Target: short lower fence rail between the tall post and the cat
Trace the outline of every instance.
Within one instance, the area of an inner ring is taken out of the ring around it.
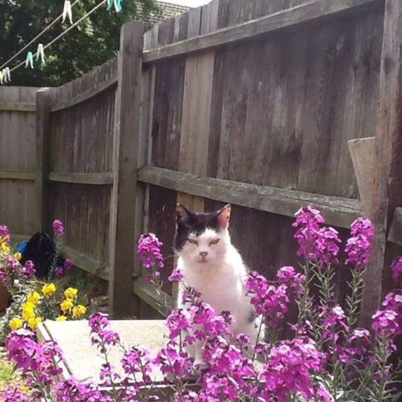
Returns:
[[[162,316],[167,317],[174,309],[173,298],[163,290],[158,291],[155,286],[146,283],[143,277],[134,280],[133,292]]]

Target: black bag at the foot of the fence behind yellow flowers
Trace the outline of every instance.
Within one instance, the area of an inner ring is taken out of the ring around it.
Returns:
[[[56,254],[56,245],[47,233],[37,232],[28,241],[22,252],[21,264],[26,261],[33,261],[35,264],[35,276],[47,278],[50,266]],[[64,264],[64,259],[58,256],[56,267]]]

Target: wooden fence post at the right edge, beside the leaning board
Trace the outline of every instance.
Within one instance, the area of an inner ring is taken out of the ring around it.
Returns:
[[[369,218],[375,236],[365,272],[361,324],[369,326],[379,308],[386,263],[386,235],[392,214],[402,204],[402,3],[385,1],[380,87],[374,141],[373,187]]]

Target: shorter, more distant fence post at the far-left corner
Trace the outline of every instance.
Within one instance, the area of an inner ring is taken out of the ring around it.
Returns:
[[[48,176],[49,176],[49,121],[50,88],[41,88],[36,92],[36,200],[37,228],[48,230]]]

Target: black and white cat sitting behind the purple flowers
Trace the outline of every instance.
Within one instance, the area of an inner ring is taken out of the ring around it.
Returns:
[[[176,209],[177,231],[174,249],[178,254],[177,269],[184,274],[185,284],[201,293],[217,314],[230,311],[235,318],[235,334],[250,336],[252,344],[258,337],[261,317],[256,317],[246,295],[244,281],[247,268],[229,235],[231,206],[217,212],[191,213],[182,205]],[[182,306],[179,287],[177,305]],[[263,331],[262,331],[263,333]],[[202,362],[202,345],[189,350],[196,363]]]

